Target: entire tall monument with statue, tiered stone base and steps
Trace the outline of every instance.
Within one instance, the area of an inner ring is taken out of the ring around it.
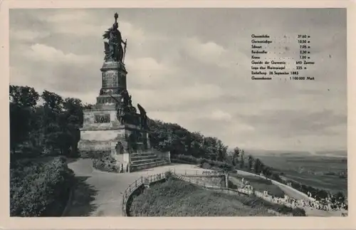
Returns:
[[[117,23],[103,34],[105,57],[102,83],[96,104],[84,110],[78,149],[81,157],[98,158],[112,155],[124,171],[155,167],[170,162],[169,152],[152,149],[149,139],[148,117],[137,104],[132,105],[127,91],[125,54],[127,41],[122,40]]]

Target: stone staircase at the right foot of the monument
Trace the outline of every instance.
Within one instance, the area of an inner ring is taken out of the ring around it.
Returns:
[[[161,159],[152,151],[133,153],[131,155],[130,171],[134,172],[142,169],[149,169],[164,164],[169,164],[169,162],[167,162],[167,160]]]

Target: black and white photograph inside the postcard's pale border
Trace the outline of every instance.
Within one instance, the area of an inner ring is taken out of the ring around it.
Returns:
[[[10,216],[347,218],[346,13],[10,9]]]

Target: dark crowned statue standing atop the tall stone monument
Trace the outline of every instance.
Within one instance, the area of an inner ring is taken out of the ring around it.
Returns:
[[[120,61],[123,63],[125,51],[126,51],[126,44],[127,41],[122,40],[122,36],[120,31],[117,29],[117,17],[118,14],[115,13],[115,23],[112,24],[112,27],[105,31],[103,34],[103,38],[108,39],[108,42],[104,42],[105,47],[105,61]],[[124,48],[122,48],[122,44],[124,44]]]

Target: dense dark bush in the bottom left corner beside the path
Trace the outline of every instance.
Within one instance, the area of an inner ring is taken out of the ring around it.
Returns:
[[[10,170],[11,216],[61,216],[73,179],[61,157],[15,164]]]

